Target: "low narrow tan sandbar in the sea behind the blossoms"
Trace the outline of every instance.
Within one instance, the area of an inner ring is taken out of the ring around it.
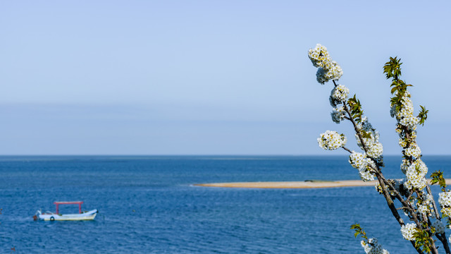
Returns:
[[[451,184],[451,179],[445,179],[447,184]],[[428,180],[430,181],[430,180]],[[199,183],[194,186],[223,187],[223,188],[337,188],[337,187],[357,187],[375,186],[375,181],[364,182],[362,180],[342,180],[342,181],[283,181],[283,182],[241,182],[241,183]]]

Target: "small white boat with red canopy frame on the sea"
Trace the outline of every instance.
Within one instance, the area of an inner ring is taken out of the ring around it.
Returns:
[[[82,212],[83,201],[56,201],[56,212],[42,212],[37,210],[33,219],[44,220],[44,221],[75,221],[75,220],[92,220],[96,217],[97,209]],[[60,214],[59,205],[78,205],[78,213],[75,214]]]

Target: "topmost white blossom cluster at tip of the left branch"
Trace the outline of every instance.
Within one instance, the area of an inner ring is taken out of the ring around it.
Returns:
[[[316,80],[319,83],[324,84],[329,80],[338,80],[343,75],[341,67],[330,59],[329,53],[323,45],[316,44],[314,49],[310,49],[309,58],[311,63],[318,67]]]

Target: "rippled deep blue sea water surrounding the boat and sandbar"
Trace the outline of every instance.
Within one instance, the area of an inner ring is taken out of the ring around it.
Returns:
[[[402,177],[400,160],[385,158],[385,176]],[[451,178],[451,157],[424,161]],[[307,179],[359,176],[347,157],[0,157],[0,253],[364,253],[354,223],[390,253],[414,253],[373,187],[193,186]],[[99,214],[32,220],[57,200],[82,200]]]

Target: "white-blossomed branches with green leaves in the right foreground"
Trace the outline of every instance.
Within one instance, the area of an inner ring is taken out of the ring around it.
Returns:
[[[400,59],[391,58],[383,67],[387,78],[392,78],[390,85],[393,97],[390,99],[390,115],[397,120],[396,131],[400,135],[399,144],[402,147],[402,155],[404,157],[401,170],[406,175],[406,179],[397,181],[385,179],[381,171],[383,164],[383,146],[379,143],[379,134],[375,128],[369,123],[362,110],[362,104],[356,95],[350,97],[349,89],[344,85],[338,85],[336,80],[342,76],[342,69],[337,62],[330,59],[330,55],[321,44],[317,44],[314,49],[309,50],[309,58],[314,66],[318,67],[316,72],[316,80],[324,84],[329,80],[333,81],[333,90],[330,92],[330,104],[333,111],[330,114],[335,123],[343,120],[350,121],[354,127],[357,145],[362,149],[363,153],[354,152],[347,147],[347,138],[344,134],[336,131],[326,131],[318,138],[319,146],[325,150],[335,150],[342,147],[350,152],[349,162],[355,169],[358,169],[360,177],[363,181],[371,181],[378,179],[376,189],[383,194],[390,211],[401,226],[402,236],[411,241],[412,246],[418,253],[438,253],[435,247],[433,236],[443,243],[445,252],[451,254],[445,236],[444,226],[440,222],[440,214],[435,205],[431,194],[431,188],[426,181],[428,168],[421,160],[421,149],[416,143],[416,126],[424,125],[427,119],[428,110],[421,107],[418,116],[413,115],[413,104],[410,94],[407,92],[408,87],[412,87],[400,79],[402,63]],[[435,178],[434,178],[435,176]],[[440,178],[441,176],[441,178]],[[444,184],[443,174],[433,174],[433,183]],[[426,190],[426,191],[425,191]],[[442,186],[443,193],[440,193],[440,206],[442,207],[443,217],[448,217],[448,224],[451,224],[451,191],[446,191]],[[395,206],[395,200],[401,203],[400,207]],[[414,223],[405,224],[404,220],[398,213],[403,210],[408,219]],[[434,214],[435,221],[431,222],[431,216]],[[356,226],[357,225],[357,226]],[[353,225],[356,234],[364,234],[363,229],[358,225]],[[366,236],[364,234],[364,236]],[[371,246],[368,238],[366,244]],[[362,243],[366,253],[367,248]],[[376,249],[375,249],[376,250]],[[388,251],[380,248],[380,252],[371,253],[388,253]],[[379,250],[379,249],[378,249]],[[385,251],[385,252],[381,252]]]

